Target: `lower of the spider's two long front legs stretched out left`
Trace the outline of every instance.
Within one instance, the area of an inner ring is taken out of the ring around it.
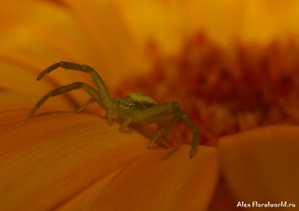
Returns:
[[[99,95],[99,93],[92,88],[91,86],[89,86],[88,84],[84,84],[84,83],[73,83],[64,87],[60,87],[56,90],[53,90],[51,92],[48,92],[48,94],[46,94],[44,97],[42,97],[39,102],[37,102],[37,104],[32,108],[32,110],[30,111],[29,115],[27,118],[31,118],[32,115],[34,114],[35,110],[41,106],[49,97],[54,97],[56,95],[60,95],[72,90],[76,90],[76,89],[80,89],[82,88],[83,90],[85,90],[94,101],[96,101],[101,107],[103,107],[105,110],[107,110],[107,107],[104,105],[101,96]]]

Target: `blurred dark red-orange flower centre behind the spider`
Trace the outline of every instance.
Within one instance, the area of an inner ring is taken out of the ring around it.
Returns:
[[[156,46],[149,49],[151,74],[124,82],[132,86],[121,92],[142,92],[158,103],[176,101],[197,125],[201,144],[217,146],[222,135],[259,126],[299,124],[299,47],[294,40],[222,49],[199,34],[172,57],[158,53]],[[178,123],[171,143],[189,144],[190,136]]]

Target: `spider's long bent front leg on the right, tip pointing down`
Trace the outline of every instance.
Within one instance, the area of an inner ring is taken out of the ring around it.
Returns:
[[[165,111],[170,110],[170,109],[172,109],[173,111],[172,112],[165,112]],[[155,122],[160,122],[162,120],[166,120],[166,119],[162,119],[162,117],[166,117],[166,115],[169,115],[169,113],[171,113],[173,120],[170,122],[169,126],[167,127],[167,129],[164,132],[166,132],[166,135],[167,135],[168,132],[170,131],[170,129],[178,121],[178,119],[181,118],[193,134],[191,151],[190,151],[190,154],[189,154],[189,156],[192,157],[195,150],[196,150],[196,146],[197,146],[198,129],[196,128],[196,126],[192,122],[192,120],[187,116],[187,114],[184,113],[184,112],[181,112],[178,103],[168,102],[168,103],[159,104],[159,105],[156,105],[156,106],[151,106],[148,109],[146,109],[146,110],[139,113],[139,115],[138,115],[139,121],[136,122],[136,123],[142,123],[142,124],[148,123],[149,124],[149,122],[153,123],[152,120],[155,120]],[[147,120],[148,118],[149,118],[149,120]],[[170,118],[167,118],[167,119],[170,119]]]

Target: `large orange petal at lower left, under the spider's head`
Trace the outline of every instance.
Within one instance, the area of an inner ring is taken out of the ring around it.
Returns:
[[[122,132],[118,126],[75,113],[44,114],[0,126],[1,209],[57,208],[137,157],[161,149],[155,145],[148,150],[148,137],[134,125]],[[87,195],[89,199],[93,197]]]

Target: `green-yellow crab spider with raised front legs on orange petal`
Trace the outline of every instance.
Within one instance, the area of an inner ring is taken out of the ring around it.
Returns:
[[[166,139],[166,136],[169,133],[169,131],[181,118],[193,133],[193,141],[191,145],[191,151],[189,154],[189,156],[192,158],[197,146],[198,130],[193,121],[187,116],[187,114],[180,110],[180,107],[176,102],[168,102],[157,105],[152,98],[143,93],[131,93],[127,95],[124,99],[121,99],[118,96],[112,99],[104,81],[93,68],[87,65],[80,65],[72,62],[61,61],[56,64],[53,64],[47,69],[45,69],[43,72],[41,72],[36,80],[41,80],[45,74],[48,74],[49,72],[55,70],[58,67],[65,68],[66,70],[77,70],[89,73],[98,91],[89,86],[88,84],[81,82],[76,82],[55,89],[53,91],[50,91],[48,94],[46,94],[44,97],[40,99],[40,101],[32,108],[27,118],[31,118],[35,110],[39,106],[41,106],[49,97],[54,97],[56,95],[60,95],[75,89],[82,88],[91,96],[91,98],[77,110],[77,113],[84,110],[90,103],[96,102],[104,110],[107,111],[108,123],[110,125],[112,125],[112,115],[115,115],[118,118],[124,120],[124,122],[120,125],[119,130],[122,130],[125,127],[127,127],[131,121],[137,124],[151,124],[158,122],[157,132],[149,142],[148,148],[150,148],[161,135],[163,127],[164,132],[162,134],[162,138]],[[169,125],[167,125],[166,123],[166,120],[168,119],[172,119]]]

